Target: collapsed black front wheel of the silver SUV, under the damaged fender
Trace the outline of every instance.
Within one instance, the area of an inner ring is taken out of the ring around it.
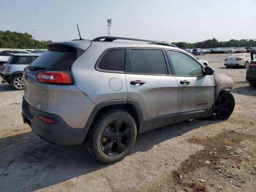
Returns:
[[[230,117],[235,107],[234,96],[228,92],[223,91],[218,95],[213,107],[209,120],[226,120]]]

